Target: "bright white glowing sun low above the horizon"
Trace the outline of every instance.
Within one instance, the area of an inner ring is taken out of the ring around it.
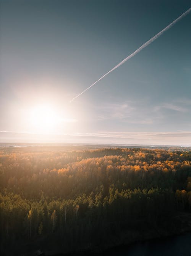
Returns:
[[[58,113],[51,106],[40,105],[31,110],[30,123],[38,131],[50,132],[57,127],[59,122]]]

